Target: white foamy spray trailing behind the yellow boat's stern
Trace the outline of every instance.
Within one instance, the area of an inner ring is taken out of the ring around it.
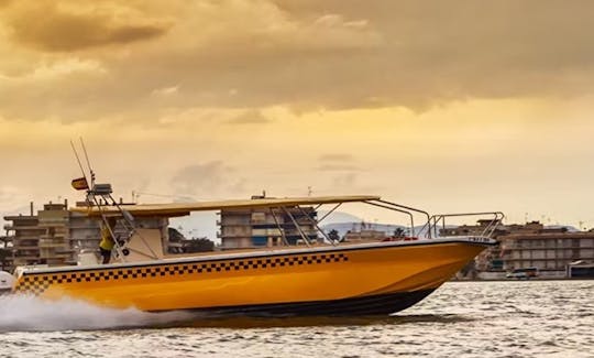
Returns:
[[[72,299],[51,302],[24,295],[0,296],[0,333],[155,328],[176,326],[191,318],[191,314],[185,312],[116,310]]]

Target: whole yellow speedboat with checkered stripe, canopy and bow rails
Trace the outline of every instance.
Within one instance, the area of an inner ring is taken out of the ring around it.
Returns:
[[[108,195],[109,193],[92,193]],[[179,216],[196,210],[277,208],[361,202],[400,213],[410,207],[376,196],[258,198],[194,204],[95,205],[89,216]],[[98,202],[96,202],[98,203]],[[114,202],[113,202],[114,203]],[[484,214],[484,213],[483,213]],[[389,314],[419,302],[486,247],[503,215],[485,235],[436,238],[447,216],[427,215],[424,238],[359,242],[301,242],[243,251],[168,257],[161,240],[136,234],[118,248],[121,262],[61,268],[20,268],[13,289],[43,299],[73,297],[109,307],[160,312],[193,310],[239,315]],[[413,215],[410,215],[413,218]],[[414,226],[413,226],[414,227]],[[144,254],[142,251],[145,251]],[[128,251],[128,252],[127,252]],[[146,251],[156,252],[151,257]],[[123,253],[122,253],[123,252]],[[131,253],[130,253],[131,252]],[[127,256],[127,253],[130,253]]]

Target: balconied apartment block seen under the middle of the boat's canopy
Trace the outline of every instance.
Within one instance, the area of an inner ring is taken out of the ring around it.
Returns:
[[[221,249],[272,247],[285,240],[289,245],[305,245],[305,240],[319,240],[317,211],[312,207],[222,209],[218,214],[217,237],[221,239]]]

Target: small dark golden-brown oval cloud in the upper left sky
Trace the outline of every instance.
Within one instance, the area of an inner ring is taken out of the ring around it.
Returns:
[[[128,44],[161,36],[168,28],[163,22],[117,14],[116,9],[69,11],[58,3],[35,1],[14,11],[8,23],[14,41],[48,52]]]

